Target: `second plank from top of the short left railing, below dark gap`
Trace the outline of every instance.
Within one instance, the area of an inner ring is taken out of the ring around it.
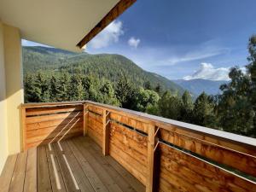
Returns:
[[[77,117],[83,117],[83,112],[72,112],[72,113],[56,113],[49,114],[44,116],[34,116],[26,118],[26,125],[33,123],[40,123],[49,120],[57,120],[57,119],[71,119]]]

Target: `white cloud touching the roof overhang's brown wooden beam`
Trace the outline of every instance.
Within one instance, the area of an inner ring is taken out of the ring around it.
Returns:
[[[114,20],[90,41],[89,46],[94,49],[107,47],[109,44],[117,43],[123,34],[123,23],[120,20]]]

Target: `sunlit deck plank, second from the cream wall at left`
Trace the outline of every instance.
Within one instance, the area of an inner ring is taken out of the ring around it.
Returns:
[[[26,160],[27,151],[18,154],[14,174],[9,186],[9,192],[23,191],[26,175]]]

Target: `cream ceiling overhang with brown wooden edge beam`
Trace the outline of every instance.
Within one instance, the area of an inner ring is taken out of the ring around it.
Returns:
[[[81,51],[136,0],[1,0],[0,19],[26,40]]]

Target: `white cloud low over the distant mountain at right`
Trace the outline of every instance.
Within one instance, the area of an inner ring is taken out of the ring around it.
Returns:
[[[190,79],[208,79],[208,80],[230,80],[230,67],[215,68],[211,63],[201,63],[201,67],[192,75],[186,76],[184,80]]]

